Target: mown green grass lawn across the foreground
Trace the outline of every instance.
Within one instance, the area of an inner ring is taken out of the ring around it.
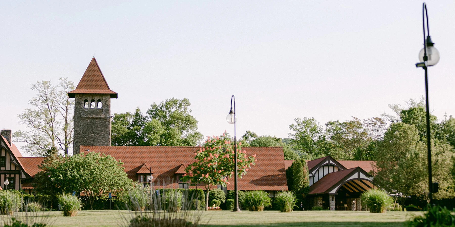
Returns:
[[[403,226],[405,220],[420,214],[422,212],[202,211],[201,224],[203,227],[389,227]],[[76,217],[63,217],[61,212],[40,212],[39,215],[38,219],[44,218],[53,227],[119,227],[132,214],[128,211],[80,211]]]

